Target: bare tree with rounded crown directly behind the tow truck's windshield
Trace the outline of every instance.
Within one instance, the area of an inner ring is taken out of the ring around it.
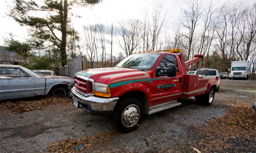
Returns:
[[[120,35],[123,43],[119,41],[120,47],[125,51],[126,56],[131,55],[141,42],[141,22],[136,19],[119,23]]]

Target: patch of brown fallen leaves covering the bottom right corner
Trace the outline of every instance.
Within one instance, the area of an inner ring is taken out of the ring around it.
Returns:
[[[195,135],[203,137],[197,147],[203,152],[250,152],[255,149],[256,115],[251,105],[232,105],[227,115],[195,128]]]

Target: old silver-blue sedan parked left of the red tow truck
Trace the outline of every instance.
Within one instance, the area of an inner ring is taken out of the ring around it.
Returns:
[[[0,64],[0,100],[53,94],[68,96],[74,79],[63,76],[41,77],[20,65]]]

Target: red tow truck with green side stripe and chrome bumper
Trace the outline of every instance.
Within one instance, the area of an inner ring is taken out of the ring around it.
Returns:
[[[181,105],[181,97],[195,97],[202,105],[214,100],[216,80],[187,74],[187,66],[203,56],[184,61],[181,49],[133,54],[112,68],[78,71],[71,89],[74,105],[92,115],[114,115],[123,133],[136,130],[143,114]]]

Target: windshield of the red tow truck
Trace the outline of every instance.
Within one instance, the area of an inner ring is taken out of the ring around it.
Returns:
[[[142,71],[151,70],[158,58],[160,57],[160,53],[140,53],[133,54],[120,63],[118,63],[117,67],[126,67],[126,68],[134,68]]]

